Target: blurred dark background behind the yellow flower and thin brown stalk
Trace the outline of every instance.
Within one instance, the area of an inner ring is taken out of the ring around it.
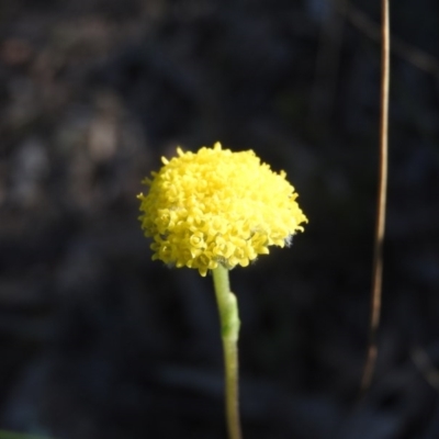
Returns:
[[[245,438],[439,438],[439,3],[392,2],[390,181],[365,357],[379,1],[0,3],[0,429],[225,438],[212,282],[151,262],[139,181],[221,140],[309,218],[232,272]]]

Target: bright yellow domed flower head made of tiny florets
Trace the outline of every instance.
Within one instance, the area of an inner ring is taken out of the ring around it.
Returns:
[[[303,230],[307,218],[286,173],[273,172],[252,150],[233,153],[216,143],[177,153],[161,159],[164,167],[143,181],[148,193],[138,195],[153,259],[205,275],[219,263],[246,267]]]

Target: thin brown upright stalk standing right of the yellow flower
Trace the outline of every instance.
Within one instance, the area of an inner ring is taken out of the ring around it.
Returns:
[[[372,266],[371,318],[369,328],[368,357],[364,364],[360,391],[363,394],[371,385],[376,363],[376,336],[381,314],[381,289],[383,278],[383,240],[387,192],[387,124],[390,82],[390,25],[389,0],[381,0],[381,112],[380,112],[380,176],[376,206],[376,226]]]

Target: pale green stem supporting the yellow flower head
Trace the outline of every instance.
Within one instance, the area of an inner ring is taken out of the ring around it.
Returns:
[[[225,399],[229,439],[240,439],[240,423],[238,409],[238,303],[230,291],[228,269],[218,266],[213,270],[216,302],[219,311],[221,337],[224,348],[225,367]]]

